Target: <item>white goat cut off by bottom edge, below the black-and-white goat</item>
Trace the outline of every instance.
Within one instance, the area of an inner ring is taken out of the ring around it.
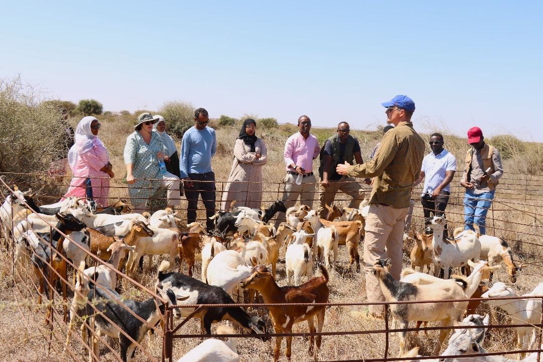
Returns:
[[[217,327],[217,334],[234,333],[231,327],[225,325]],[[236,337],[230,337],[226,342],[213,338],[206,339],[177,362],[239,362],[236,346]]]

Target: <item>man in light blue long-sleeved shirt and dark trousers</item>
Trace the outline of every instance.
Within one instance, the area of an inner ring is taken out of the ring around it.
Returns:
[[[194,111],[194,126],[188,129],[181,141],[179,169],[185,183],[187,197],[187,224],[196,221],[198,195],[201,195],[206,208],[207,231],[214,228],[215,214],[215,174],[211,169],[211,157],[217,151],[215,130],[207,127],[209,115],[203,108]]]

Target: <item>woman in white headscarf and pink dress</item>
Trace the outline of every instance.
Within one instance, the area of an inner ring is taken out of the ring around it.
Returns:
[[[109,162],[108,150],[98,138],[100,123],[87,116],[79,121],[75,130],[75,144],[68,153],[72,169],[72,182],[64,198],[89,198],[108,206],[109,178],[115,177]],[[62,198],[64,200],[64,198]]]

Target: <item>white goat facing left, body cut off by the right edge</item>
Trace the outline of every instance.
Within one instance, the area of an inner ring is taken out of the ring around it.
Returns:
[[[534,290],[530,293],[523,294],[522,296],[528,295],[543,295],[543,283],[540,283]],[[505,283],[496,282],[481,297],[482,298],[492,298],[492,297],[515,297],[518,296],[513,288],[508,287]],[[501,307],[505,310],[510,317],[512,317],[515,324],[526,323],[526,327],[517,327],[517,341],[516,346],[521,350],[528,350],[535,342],[535,333],[534,325],[539,324],[541,319],[541,299],[509,299],[509,300],[489,300],[488,304],[493,306]],[[532,336],[532,340],[530,336]],[[523,353],[521,353],[522,358]]]

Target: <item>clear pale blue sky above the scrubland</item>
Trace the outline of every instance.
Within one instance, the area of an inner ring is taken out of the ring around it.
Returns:
[[[167,100],[375,129],[408,94],[415,128],[543,142],[543,2],[4,2],[0,77],[105,110]]]

